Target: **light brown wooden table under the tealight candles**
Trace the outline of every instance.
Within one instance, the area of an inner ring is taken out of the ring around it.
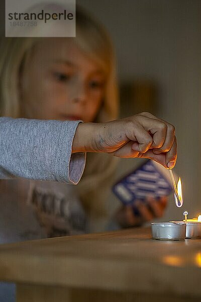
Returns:
[[[201,301],[201,239],[154,241],[150,229],[0,246],[0,280],[17,301]]]

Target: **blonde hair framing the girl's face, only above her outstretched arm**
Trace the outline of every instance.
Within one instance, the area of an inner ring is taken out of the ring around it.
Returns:
[[[43,38],[1,38],[0,45],[0,115],[21,117],[18,93],[19,72],[32,47]],[[51,39],[51,38],[50,38]],[[86,14],[76,9],[75,42],[88,56],[102,65],[108,74],[102,115],[99,121],[113,120],[118,114],[118,92],[115,55],[105,29]]]

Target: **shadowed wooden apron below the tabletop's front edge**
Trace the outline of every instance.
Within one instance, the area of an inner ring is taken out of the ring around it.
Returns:
[[[142,292],[67,288],[48,285],[17,286],[17,302],[192,302],[193,297],[178,297]],[[199,302],[199,301],[197,301]]]

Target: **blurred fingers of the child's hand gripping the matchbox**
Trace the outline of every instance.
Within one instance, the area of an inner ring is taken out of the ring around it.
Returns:
[[[132,205],[123,205],[117,210],[115,219],[123,228],[139,226],[156,217],[161,217],[166,204],[167,197],[161,197],[159,200],[149,198],[145,203],[142,201],[135,201],[135,208],[138,209],[140,215],[134,214]]]

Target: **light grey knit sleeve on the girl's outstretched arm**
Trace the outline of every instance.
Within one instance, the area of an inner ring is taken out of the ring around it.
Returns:
[[[71,154],[81,121],[0,118],[0,178],[77,184],[85,153]]]

